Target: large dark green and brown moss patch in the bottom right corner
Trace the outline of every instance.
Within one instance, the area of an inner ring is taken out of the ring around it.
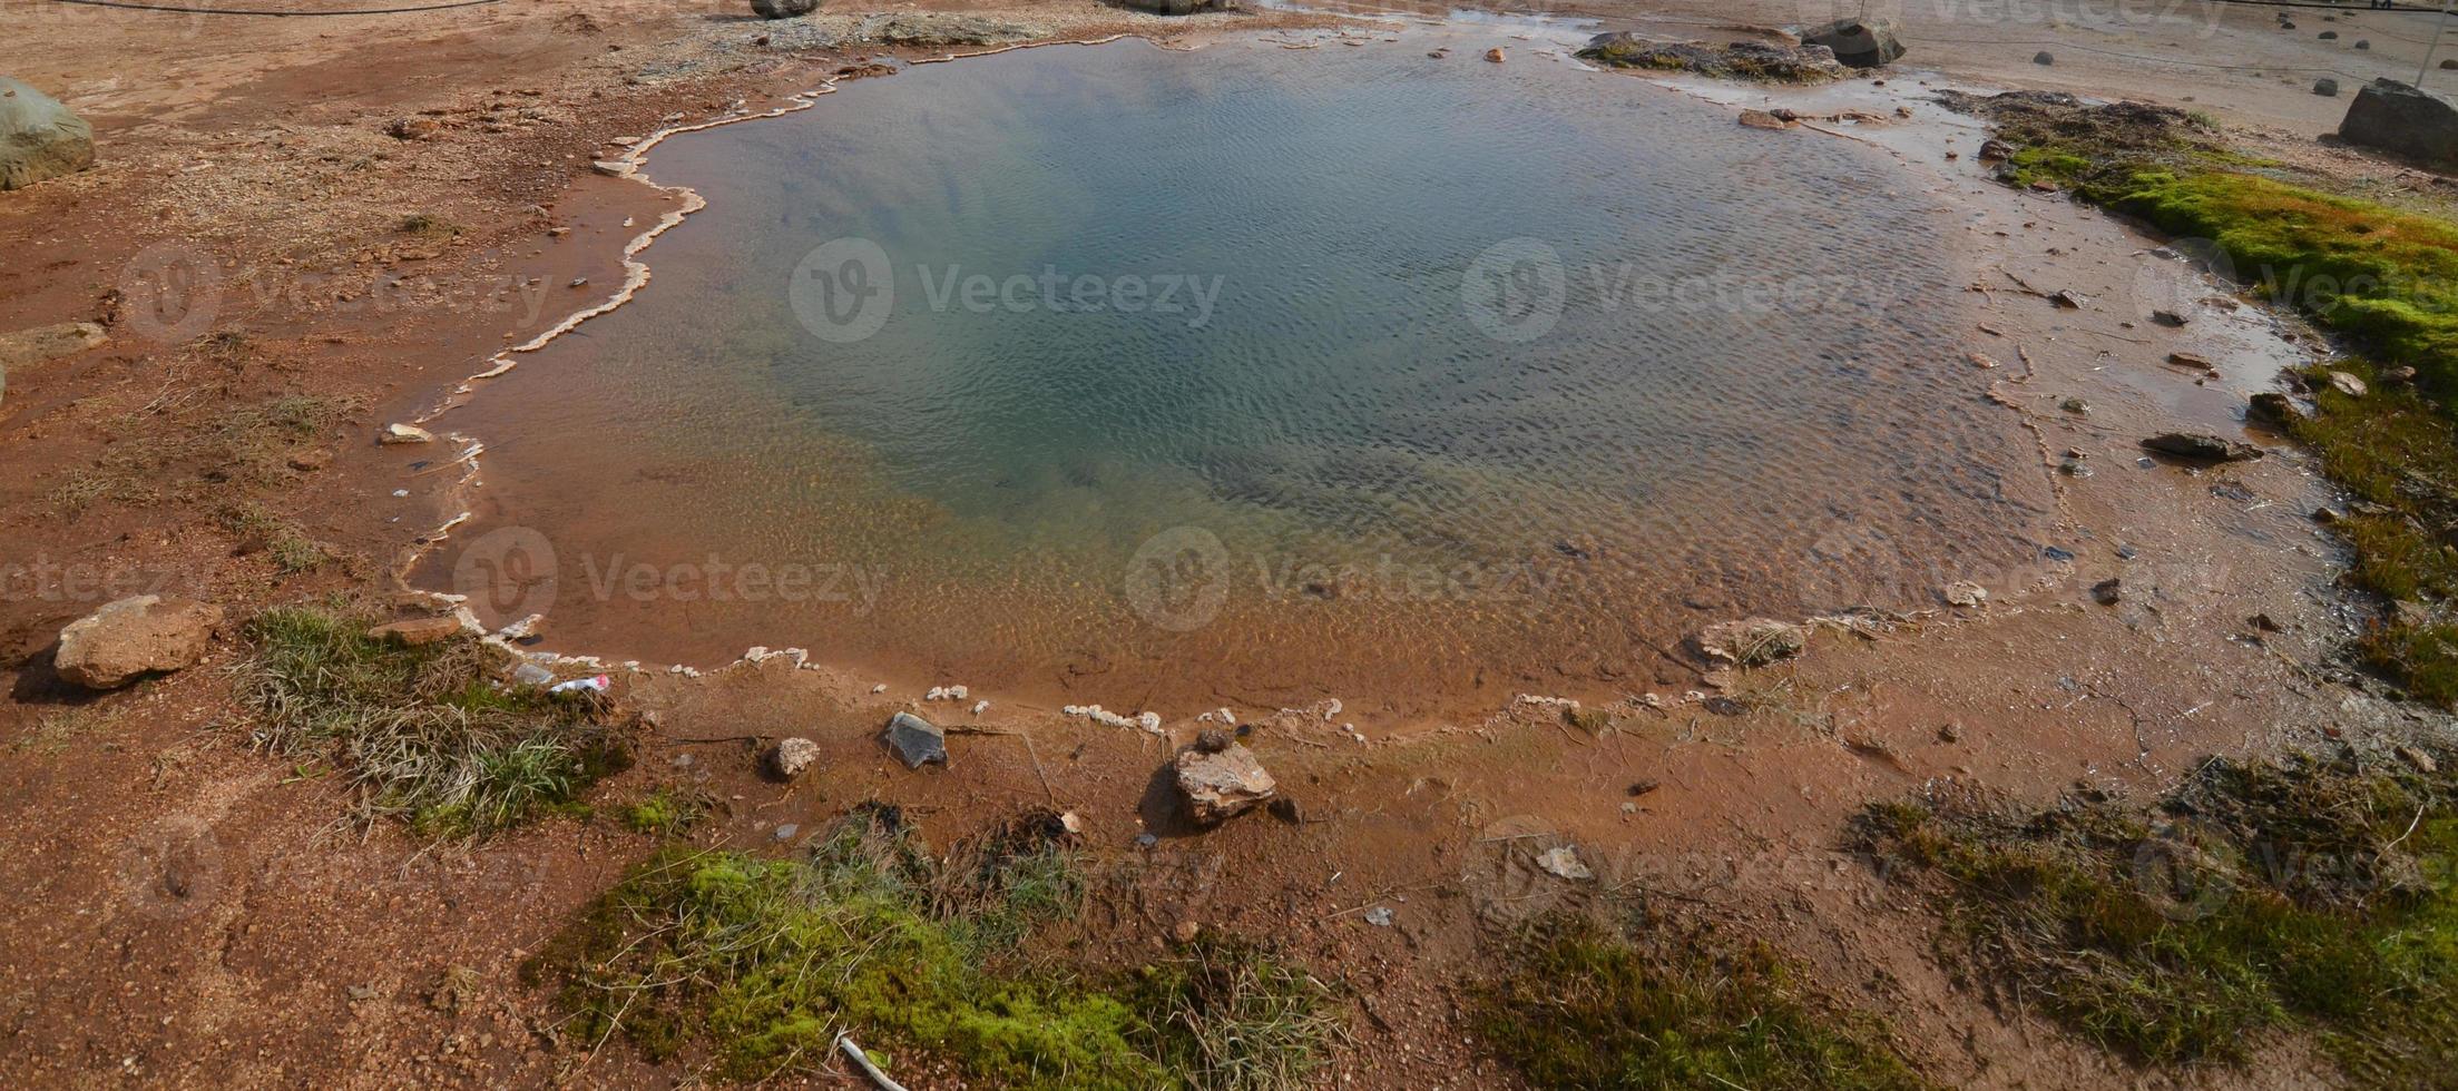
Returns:
[[[2210,762],[2153,808],[1888,804],[1856,840],[1942,904],[1976,988],[2092,1042],[2242,1064],[2308,1032],[2362,1084],[2426,1086],[2458,1059],[2453,786],[2397,759]]]

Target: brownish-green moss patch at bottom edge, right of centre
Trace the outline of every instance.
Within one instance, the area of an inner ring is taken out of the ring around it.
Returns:
[[[1819,1003],[1767,946],[1546,917],[1477,983],[1475,1027],[1541,1089],[1927,1089],[1883,1022]]]

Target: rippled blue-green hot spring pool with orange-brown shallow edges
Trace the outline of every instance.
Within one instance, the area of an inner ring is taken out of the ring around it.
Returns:
[[[1175,715],[1612,690],[2035,550],[1900,165],[1426,49],[1027,49],[669,140],[710,209],[445,418],[487,487],[423,580]]]

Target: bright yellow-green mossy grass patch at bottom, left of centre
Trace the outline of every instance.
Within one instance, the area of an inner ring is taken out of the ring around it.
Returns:
[[[1116,985],[1025,956],[1084,899],[1052,823],[949,860],[882,806],[791,860],[666,848],[528,973],[585,1047],[698,1049],[728,1079],[819,1069],[853,1032],[991,1086],[1303,1086],[1337,1027],[1330,990],[1258,948],[1197,944]]]

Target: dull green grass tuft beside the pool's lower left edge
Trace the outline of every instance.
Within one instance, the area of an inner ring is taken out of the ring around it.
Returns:
[[[327,762],[364,816],[472,838],[543,813],[629,764],[595,705],[494,678],[477,639],[369,639],[347,607],[280,607],[246,627],[238,698],[256,747]]]

